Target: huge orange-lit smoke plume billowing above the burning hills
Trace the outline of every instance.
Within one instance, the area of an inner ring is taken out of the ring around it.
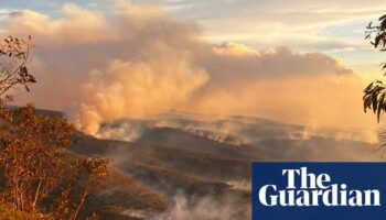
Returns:
[[[362,111],[363,80],[334,58],[214,46],[195,23],[162,8],[119,7],[104,13],[65,4],[60,18],[21,11],[1,21],[3,34],[30,34],[39,46],[31,95],[39,107],[65,110],[88,133],[104,121],[171,109],[374,128]]]

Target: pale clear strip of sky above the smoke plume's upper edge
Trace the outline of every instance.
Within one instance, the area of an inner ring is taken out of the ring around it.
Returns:
[[[299,52],[322,52],[361,74],[374,73],[382,62],[364,41],[364,28],[385,12],[382,0],[1,0],[0,14],[30,9],[57,16],[68,2],[103,11],[119,10],[111,2],[159,4],[171,16],[201,24],[213,43],[235,41],[257,50],[290,46]]]

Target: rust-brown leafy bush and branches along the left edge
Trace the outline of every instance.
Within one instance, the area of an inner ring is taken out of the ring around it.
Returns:
[[[30,41],[0,42],[0,198],[25,215],[75,220],[90,187],[107,175],[107,161],[65,150],[75,133],[67,120],[37,114],[32,105],[8,108],[11,91],[36,82],[26,68]]]

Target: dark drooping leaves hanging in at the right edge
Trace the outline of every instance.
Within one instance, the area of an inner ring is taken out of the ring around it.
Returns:
[[[366,40],[371,41],[371,44],[375,50],[380,52],[386,51],[386,14],[379,18],[379,23],[374,25],[373,22],[366,26]],[[386,62],[380,64],[382,70],[386,76]],[[386,86],[382,80],[376,80],[369,84],[363,96],[364,111],[372,110],[380,121],[383,112],[386,112]]]

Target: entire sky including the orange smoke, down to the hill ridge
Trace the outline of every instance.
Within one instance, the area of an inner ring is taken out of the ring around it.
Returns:
[[[364,29],[384,0],[0,3],[0,33],[36,45],[39,84],[21,100],[68,112],[88,133],[173,109],[376,128],[362,90],[385,57]]]

